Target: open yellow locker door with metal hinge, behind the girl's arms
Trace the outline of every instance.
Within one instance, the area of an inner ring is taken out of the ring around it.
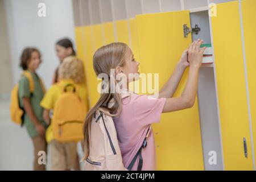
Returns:
[[[139,55],[143,73],[159,73],[159,88],[171,76],[181,53],[191,43],[183,38],[184,23],[190,24],[189,11],[137,15]],[[188,69],[175,96],[181,94]],[[162,114],[153,126],[157,166],[160,170],[203,170],[199,110],[191,109]]]

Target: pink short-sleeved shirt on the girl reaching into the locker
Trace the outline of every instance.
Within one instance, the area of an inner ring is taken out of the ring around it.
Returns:
[[[122,111],[118,118],[113,118],[123,164],[127,168],[142,146],[148,126],[160,122],[166,98],[152,99],[147,95],[132,93],[122,99]],[[142,149],[142,170],[156,170],[155,140],[152,130],[147,138],[147,147]],[[138,168],[139,158],[131,170]]]

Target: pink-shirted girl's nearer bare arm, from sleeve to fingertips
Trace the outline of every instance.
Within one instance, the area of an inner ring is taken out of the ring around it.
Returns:
[[[163,113],[187,109],[194,105],[196,100],[199,69],[203,60],[203,53],[206,47],[200,49],[200,45],[203,43],[203,40],[197,40],[193,42],[189,47],[188,51],[188,61],[189,74],[187,84],[183,90],[183,93],[180,97],[176,98],[167,98],[164,104]]]

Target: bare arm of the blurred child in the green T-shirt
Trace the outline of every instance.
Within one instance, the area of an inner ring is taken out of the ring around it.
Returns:
[[[31,122],[34,124],[36,131],[38,131],[38,134],[41,137],[44,137],[44,134],[46,133],[46,129],[44,129],[44,126],[36,118],[36,116],[34,114],[34,111],[32,110],[32,107],[31,107],[31,104],[30,104],[30,98],[29,97],[23,97],[22,102],[23,102],[24,110],[28,114],[28,117],[30,117]]]

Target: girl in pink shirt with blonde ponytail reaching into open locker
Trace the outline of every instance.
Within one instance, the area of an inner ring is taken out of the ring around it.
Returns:
[[[203,40],[199,39],[183,52],[174,73],[156,98],[130,92],[129,83],[135,79],[130,78],[129,74],[138,74],[139,63],[126,44],[112,43],[99,48],[93,56],[94,71],[97,76],[105,74],[110,79],[102,88],[105,91],[101,92],[100,99],[85,119],[84,159],[89,155],[90,122],[93,113],[101,108],[112,114],[124,166],[130,170],[155,170],[155,142],[151,123],[159,122],[162,113],[187,109],[194,105],[199,69],[205,50],[205,47],[200,48],[202,43]],[[179,97],[172,97],[187,67],[189,67],[189,75],[183,93]],[[105,79],[106,77],[102,80],[106,83],[108,79]],[[124,80],[125,84],[123,84]],[[113,89],[113,85],[119,87],[114,86]],[[120,90],[121,92],[118,92]],[[129,97],[124,97],[127,92]],[[110,102],[114,103],[111,107],[109,107]]]

